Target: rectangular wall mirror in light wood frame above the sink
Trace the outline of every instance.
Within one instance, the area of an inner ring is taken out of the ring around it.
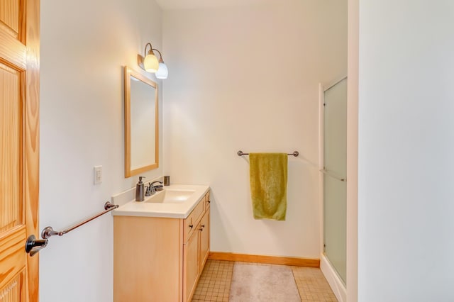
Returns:
[[[159,164],[157,84],[129,67],[125,81],[125,177]]]

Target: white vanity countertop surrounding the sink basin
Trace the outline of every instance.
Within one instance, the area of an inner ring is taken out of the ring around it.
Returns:
[[[143,217],[167,217],[167,218],[187,218],[197,203],[204,198],[209,186],[193,184],[172,184],[164,186],[165,190],[194,190],[189,198],[180,203],[150,203],[146,202],[152,196],[145,196],[145,201],[129,201],[128,203],[112,211],[114,216],[143,216]],[[155,194],[162,194],[158,191]]]

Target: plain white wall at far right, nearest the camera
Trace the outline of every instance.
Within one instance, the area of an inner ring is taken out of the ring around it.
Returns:
[[[359,1],[359,301],[454,301],[454,3]]]

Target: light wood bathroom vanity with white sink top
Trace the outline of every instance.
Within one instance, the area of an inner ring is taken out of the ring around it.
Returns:
[[[165,186],[114,214],[114,301],[190,301],[209,254],[209,186]]]

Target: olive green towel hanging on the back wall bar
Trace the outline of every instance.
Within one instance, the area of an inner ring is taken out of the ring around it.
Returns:
[[[250,153],[250,195],[255,219],[285,220],[287,153]]]

